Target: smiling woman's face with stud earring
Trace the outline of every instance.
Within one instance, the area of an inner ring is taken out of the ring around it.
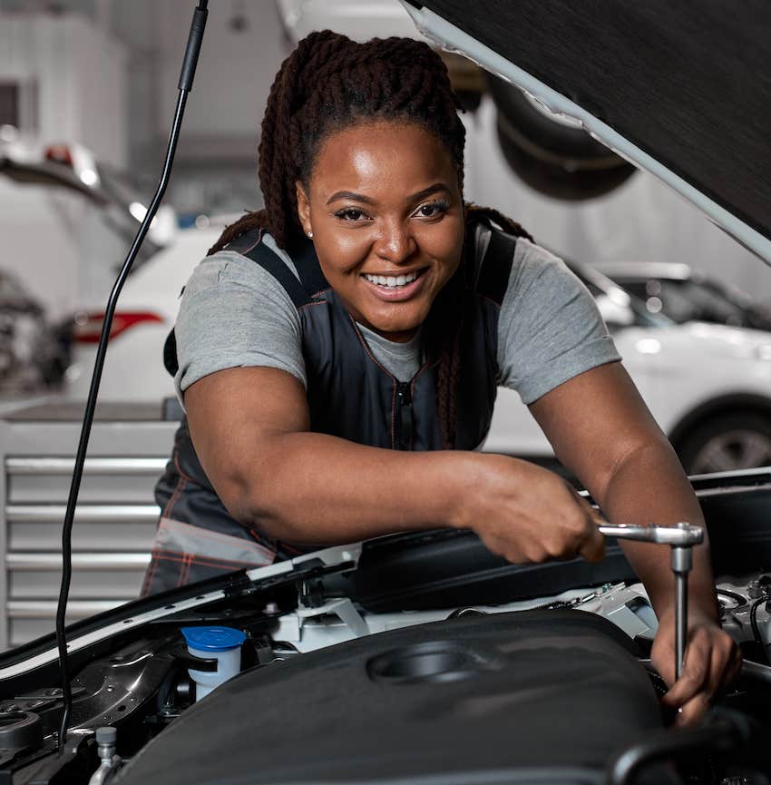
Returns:
[[[363,123],[318,152],[298,214],[321,270],[356,321],[415,335],[461,259],[464,207],[449,153],[413,124]]]

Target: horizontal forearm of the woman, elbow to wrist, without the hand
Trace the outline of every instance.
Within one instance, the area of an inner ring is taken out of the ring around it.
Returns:
[[[262,441],[220,496],[241,523],[288,542],[332,544],[458,525],[475,456],[410,453],[316,433]]]

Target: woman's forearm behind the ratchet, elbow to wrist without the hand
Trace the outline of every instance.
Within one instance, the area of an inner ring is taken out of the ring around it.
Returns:
[[[671,525],[688,521],[704,525],[698,500],[669,443],[652,442],[620,461],[598,498],[612,523]],[[621,542],[629,563],[648,590],[659,616],[674,603],[674,577],[667,545]],[[717,619],[714,579],[707,537],[694,548],[688,576],[689,605],[694,613]]]

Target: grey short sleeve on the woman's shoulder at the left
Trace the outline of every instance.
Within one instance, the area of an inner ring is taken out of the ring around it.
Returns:
[[[200,262],[182,294],[174,328],[177,393],[225,368],[288,371],[306,385],[297,309],[254,261],[220,251]]]

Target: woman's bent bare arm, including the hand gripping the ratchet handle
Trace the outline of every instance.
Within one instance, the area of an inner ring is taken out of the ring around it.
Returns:
[[[550,472],[504,456],[398,452],[310,433],[305,391],[284,371],[211,374],[188,388],[185,405],[230,514],[285,542],[451,525],[513,562],[601,555],[589,505]]]

